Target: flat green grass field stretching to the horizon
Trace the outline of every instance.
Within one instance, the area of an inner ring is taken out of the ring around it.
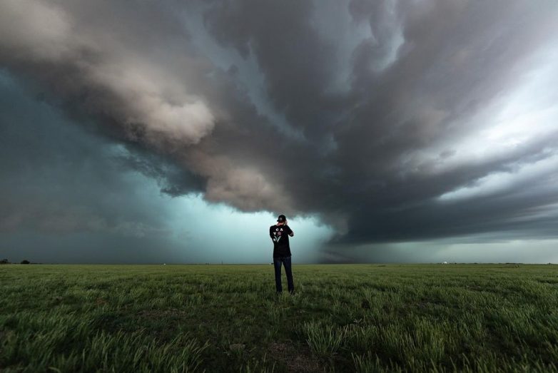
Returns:
[[[552,372],[557,270],[4,265],[0,370]]]

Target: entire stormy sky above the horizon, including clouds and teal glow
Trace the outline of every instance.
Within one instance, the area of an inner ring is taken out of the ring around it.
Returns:
[[[0,256],[558,262],[558,1],[0,2]]]

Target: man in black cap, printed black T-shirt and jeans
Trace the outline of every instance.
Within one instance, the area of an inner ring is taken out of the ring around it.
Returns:
[[[293,272],[290,267],[289,246],[289,236],[293,237],[293,235],[295,235],[295,233],[287,225],[287,218],[285,218],[285,215],[279,215],[277,224],[269,228],[269,236],[271,240],[273,240],[273,267],[275,267],[275,288],[278,294],[283,292],[283,287],[281,286],[281,265],[285,266],[287,285],[290,294],[295,292]]]

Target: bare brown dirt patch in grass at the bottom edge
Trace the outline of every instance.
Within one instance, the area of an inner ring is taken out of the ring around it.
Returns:
[[[323,372],[320,362],[310,355],[308,349],[297,349],[293,344],[272,343],[268,351],[268,356],[285,364],[289,372]]]

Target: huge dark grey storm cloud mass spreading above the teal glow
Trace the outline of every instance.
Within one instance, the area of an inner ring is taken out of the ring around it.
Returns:
[[[555,1],[128,6],[6,1],[0,63],[166,193],[337,243],[554,237]]]

